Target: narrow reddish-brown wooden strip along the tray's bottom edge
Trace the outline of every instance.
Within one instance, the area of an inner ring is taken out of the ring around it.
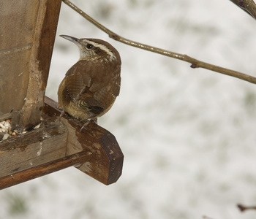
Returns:
[[[8,174],[7,176],[0,178],[0,190],[13,185],[17,185],[19,183],[33,180],[37,177],[42,177],[46,174],[59,171],[69,166],[83,164],[84,162],[89,161],[90,158],[91,153],[82,151],[80,153],[69,155],[64,158],[59,158],[58,160],[35,166],[21,172]]]

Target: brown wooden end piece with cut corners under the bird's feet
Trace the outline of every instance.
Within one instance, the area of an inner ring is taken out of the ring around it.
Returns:
[[[44,110],[46,114],[49,116],[61,114],[55,101],[45,96],[45,103],[48,106]],[[113,134],[95,123],[89,123],[80,132],[83,123],[67,114],[61,118],[61,123],[69,130],[66,155],[82,150],[92,153],[91,160],[77,168],[106,185],[115,183],[121,176],[124,155]]]

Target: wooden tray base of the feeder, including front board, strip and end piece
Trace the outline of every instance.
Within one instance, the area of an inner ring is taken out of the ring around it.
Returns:
[[[0,189],[74,166],[109,185],[121,176],[124,155],[116,138],[95,123],[64,115],[45,96],[40,128],[0,143]]]

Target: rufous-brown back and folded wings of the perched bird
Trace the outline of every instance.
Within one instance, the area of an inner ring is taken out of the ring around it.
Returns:
[[[78,61],[66,74],[70,98],[84,110],[103,112],[119,94],[120,69],[121,66],[104,62],[96,68],[91,61]]]

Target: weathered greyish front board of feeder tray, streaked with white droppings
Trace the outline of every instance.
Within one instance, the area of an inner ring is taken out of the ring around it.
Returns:
[[[62,158],[67,150],[67,128],[59,123],[42,127],[0,143],[0,177]]]

